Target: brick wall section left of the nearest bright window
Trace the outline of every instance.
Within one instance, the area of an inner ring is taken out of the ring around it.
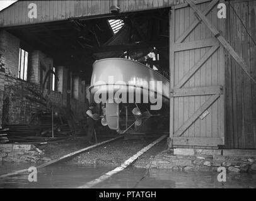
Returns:
[[[20,40],[7,31],[0,31],[0,54],[5,72],[18,77]]]

